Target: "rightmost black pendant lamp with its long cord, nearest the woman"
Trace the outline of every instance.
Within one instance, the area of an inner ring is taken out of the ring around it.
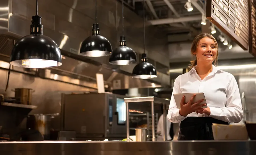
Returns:
[[[144,2],[143,0],[143,46],[144,46],[144,53],[141,57],[141,63],[136,65],[133,68],[133,78],[138,79],[149,79],[157,77],[157,70],[155,66],[147,62],[147,55],[145,53],[145,9],[144,9]]]

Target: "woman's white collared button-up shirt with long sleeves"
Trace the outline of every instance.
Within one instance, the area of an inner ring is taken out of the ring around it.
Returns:
[[[209,117],[225,122],[238,123],[243,118],[242,103],[235,77],[213,65],[212,72],[203,80],[198,76],[194,66],[190,72],[178,76],[174,82],[167,118],[177,123],[186,117],[179,114],[180,103],[176,103],[173,94],[204,93]],[[187,117],[208,117],[206,114],[192,112]]]

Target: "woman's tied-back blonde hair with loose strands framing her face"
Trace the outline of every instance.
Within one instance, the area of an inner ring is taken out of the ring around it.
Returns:
[[[218,43],[216,39],[209,33],[201,33],[194,38],[192,42],[191,50],[190,50],[191,58],[193,58],[194,53],[197,52],[199,41],[204,37],[208,37],[212,39],[216,45],[217,53],[214,60],[214,65],[216,66],[216,63],[218,64]],[[197,65],[197,58],[195,60],[190,61],[190,65],[187,67],[187,69],[191,70],[195,65]]]

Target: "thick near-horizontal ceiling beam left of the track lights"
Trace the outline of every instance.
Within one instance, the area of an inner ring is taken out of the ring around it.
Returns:
[[[155,20],[148,20],[148,22],[152,25],[161,25],[161,24],[190,22],[195,20],[202,20],[202,16],[199,15],[199,16],[187,16],[187,17],[180,17],[180,18],[155,19]]]

